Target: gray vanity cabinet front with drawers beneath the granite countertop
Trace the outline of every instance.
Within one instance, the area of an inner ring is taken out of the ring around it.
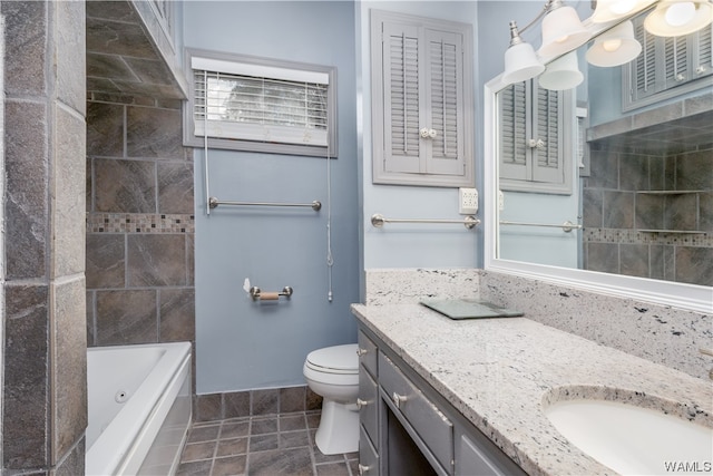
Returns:
[[[359,359],[360,475],[525,475],[363,326]]]

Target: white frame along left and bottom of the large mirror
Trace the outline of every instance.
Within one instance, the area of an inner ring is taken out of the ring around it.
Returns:
[[[627,18],[621,19],[621,21]],[[594,38],[614,23],[596,25],[587,19],[583,22]],[[544,58],[545,62],[554,58]],[[684,310],[713,312],[713,288],[673,281],[635,278],[597,271],[550,266],[497,258],[500,226],[498,220],[498,161],[497,161],[497,94],[507,86],[498,75],[485,85],[484,90],[484,192],[489,200],[484,201],[484,268],[535,279],[550,284],[570,286],[616,298],[634,299],[654,304],[670,305]]]

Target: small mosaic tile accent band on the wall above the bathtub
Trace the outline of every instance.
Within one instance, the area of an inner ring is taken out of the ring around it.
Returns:
[[[88,213],[87,233],[195,233],[188,214]]]

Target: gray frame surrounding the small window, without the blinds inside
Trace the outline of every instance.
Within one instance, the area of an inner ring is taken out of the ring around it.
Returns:
[[[264,58],[250,55],[227,54],[222,51],[211,51],[197,48],[185,49],[185,62],[184,69],[186,78],[191,80],[191,87],[188,88],[188,99],[184,103],[183,108],[183,144],[187,147],[205,147],[206,139],[204,135],[196,135],[196,122],[195,122],[195,81],[194,81],[194,68],[193,59],[204,59],[207,61],[217,62],[232,62],[242,65],[245,67],[254,67],[255,69],[262,69],[265,71],[285,70],[287,72],[300,74],[325,74],[329,77],[329,87],[326,93],[326,140],[328,145],[315,144],[290,144],[290,143],[276,143],[264,140],[247,140],[223,137],[207,137],[208,148],[218,148],[227,150],[241,150],[241,152],[256,152],[266,154],[282,154],[282,155],[300,155],[300,156],[314,156],[326,157],[329,152],[330,158],[336,158],[339,154],[338,147],[338,116],[336,116],[336,67],[314,65],[299,61],[289,61],[274,58]],[[203,69],[198,69],[203,70]],[[217,71],[225,72],[225,71]],[[268,75],[265,75],[267,77]]]

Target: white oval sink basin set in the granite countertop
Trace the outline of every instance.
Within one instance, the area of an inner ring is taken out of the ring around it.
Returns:
[[[713,429],[633,405],[565,400],[545,408],[555,428],[623,475],[711,474]]]

